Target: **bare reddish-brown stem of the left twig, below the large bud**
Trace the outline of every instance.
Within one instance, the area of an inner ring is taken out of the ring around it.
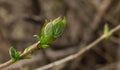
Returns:
[[[38,46],[40,46],[40,45],[39,45],[39,42],[33,44],[33,45],[32,45],[32,48],[31,48],[29,51],[24,52],[24,53],[21,54],[20,60],[22,60],[24,56],[30,54],[31,52],[38,50],[38,49],[39,49]],[[11,65],[11,64],[13,64],[13,63],[14,63],[14,62],[13,62],[12,60],[9,60],[9,61],[7,61],[7,62],[5,62],[5,63],[3,63],[3,64],[0,64],[0,69],[3,69],[3,68],[5,68],[5,67],[7,67],[7,66],[9,66],[9,65]]]

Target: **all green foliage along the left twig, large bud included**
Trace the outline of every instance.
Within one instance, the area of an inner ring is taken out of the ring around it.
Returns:
[[[66,18],[63,19],[58,17],[57,19],[48,22],[45,21],[45,25],[41,30],[41,36],[34,35],[40,42],[42,48],[47,48],[50,43],[52,43],[58,36],[62,34],[66,26]],[[41,48],[40,47],[40,48]],[[32,46],[27,47],[23,53],[30,51]],[[24,56],[24,59],[29,59],[33,52]],[[13,47],[9,49],[9,54],[13,62],[16,62],[20,59],[21,52],[16,51]]]

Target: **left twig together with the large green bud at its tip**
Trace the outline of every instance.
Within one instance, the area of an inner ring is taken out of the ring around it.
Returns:
[[[55,20],[48,22],[46,21],[45,25],[43,26],[41,30],[41,36],[39,37],[38,35],[35,35],[35,37],[38,39],[38,42],[33,44],[32,47],[23,52],[20,57],[18,58],[18,54],[16,55],[16,50],[15,49],[10,49],[10,56],[14,59],[15,61],[9,60],[3,64],[0,65],[0,69],[5,68],[13,63],[16,62],[16,57],[17,60],[22,60],[25,58],[25,56],[29,55],[30,53],[42,48],[46,48],[47,45],[52,43],[58,36],[61,35],[61,33],[64,31],[66,26],[66,18],[61,18],[58,17]],[[27,49],[27,48],[26,48]],[[19,53],[19,52],[17,52]]]

